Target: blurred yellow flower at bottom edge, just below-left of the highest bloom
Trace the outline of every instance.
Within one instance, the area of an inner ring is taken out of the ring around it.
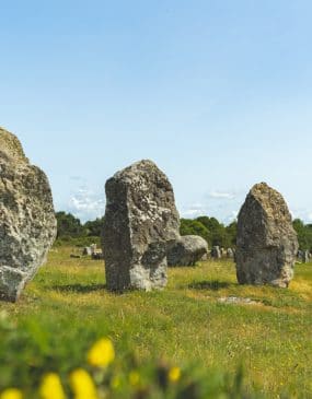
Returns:
[[[84,369],[78,368],[70,375],[70,386],[74,399],[99,399],[96,387]]]

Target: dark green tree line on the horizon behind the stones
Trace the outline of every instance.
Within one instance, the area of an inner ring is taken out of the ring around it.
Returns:
[[[101,237],[104,218],[97,218],[86,223],[81,223],[78,218],[66,212],[57,212],[56,218],[58,222],[58,240],[79,239],[79,242],[89,242]],[[300,219],[296,219],[293,227],[298,234],[300,249],[312,250],[312,224],[304,224]],[[210,248],[217,245],[223,248],[234,248],[236,232],[236,221],[224,225],[216,218],[209,216],[181,219],[181,235],[199,235],[207,240]]]

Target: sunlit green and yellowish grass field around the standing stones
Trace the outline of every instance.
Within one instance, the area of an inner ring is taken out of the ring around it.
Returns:
[[[114,295],[102,261],[69,255],[70,248],[54,249],[20,302],[0,303],[21,336],[1,337],[0,389],[14,378],[26,385],[30,369],[68,373],[91,342],[109,337],[122,356],[135,349],[140,361],[230,374],[243,365],[251,391],[312,398],[312,265],[297,266],[288,290],[240,286],[232,262],[205,261],[170,269],[162,292]],[[23,341],[23,332],[34,342]]]

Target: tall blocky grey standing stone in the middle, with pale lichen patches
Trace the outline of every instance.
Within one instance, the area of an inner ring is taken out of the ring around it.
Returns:
[[[172,186],[151,161],[107,180],[103,253],[111,291],[166,285],[169,247],[180,238]]]

